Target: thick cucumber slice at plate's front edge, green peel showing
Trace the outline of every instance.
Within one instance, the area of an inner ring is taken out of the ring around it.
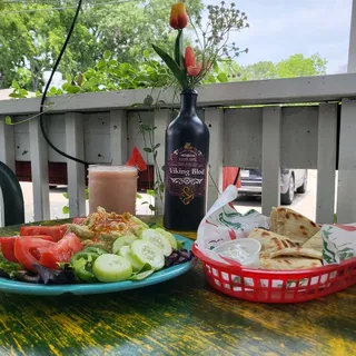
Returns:
[[[105,254],[96,259],[92,271],[100,281],[120,281],[132,275],[132,266],[121,256]]]

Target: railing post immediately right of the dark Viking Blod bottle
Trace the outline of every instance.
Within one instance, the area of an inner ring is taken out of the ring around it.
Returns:
[[[207,201],[207,208],[209,209],[222,191],[224,109],[206,109],[205,123],[210,132]]]

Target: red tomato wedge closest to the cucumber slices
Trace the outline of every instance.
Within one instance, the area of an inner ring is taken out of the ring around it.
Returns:
[[[58,268],[58,263],[69,263],[71,257],[83,248],[76,234],[69,233],[59,240],[53,248],[43,251],[40,258],[40,265],[48,268]]]

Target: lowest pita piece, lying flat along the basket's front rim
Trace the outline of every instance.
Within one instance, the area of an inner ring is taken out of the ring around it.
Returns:
[[[263,269],[275,270],[312,269],[323,266],[319,259],[300,257],[268,258],[261,256],[259,257],[259,264]]]

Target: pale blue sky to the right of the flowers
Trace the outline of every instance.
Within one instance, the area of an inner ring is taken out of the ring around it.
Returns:
[[[346,72],[352,0],[233,0],[248,16],[249,28],[234,33],[239,65],[274,62],[290,55],[319,53],[327,73]],[[218,0],[204,0],[218,4]],[[230,3],[231,0],[227,0]],[[233,37],[231,37],[233,38]]]

